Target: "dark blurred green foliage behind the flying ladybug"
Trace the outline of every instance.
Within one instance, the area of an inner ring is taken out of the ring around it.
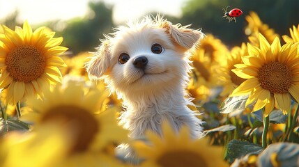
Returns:
[[[240,8],[243,15],[237,18],[237,22],[228,22],[222,18],[222,8]],[[224,43],[233,46],[247,41],[244,34],[244,26],[247,25],[245,16],[250,11],[256,12],[261,21],[275,29],[276,33],[289,34],[293,24],[298,24],[298,0],[189,0],[183,6],[181,24],[192,24],[192,27],[202,28],[204,33],[213,33],[221,36]],[[279,23],[279,24],[278,24]]]

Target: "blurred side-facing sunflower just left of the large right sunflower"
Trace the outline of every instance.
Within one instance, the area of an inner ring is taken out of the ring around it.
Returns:
[[[218,69],[220,70],[219,83],[223,85],[223,91],[221,93],[222,96],[231,94],[236,87],[245,81],[245,79],[238,77],[231,70],[236,68],[234,65],[243,63],[242,56],[247,55],[248,51],[245,43],[243,43],[241,47],[233,47],[233,49],[231,49],[231,53],[227,56],[226,67]]]

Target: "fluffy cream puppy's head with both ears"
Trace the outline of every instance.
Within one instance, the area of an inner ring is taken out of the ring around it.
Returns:
[[[190,71],[185,52],[202,36],[189,26],[145,17],[107,36],[86,69],[91,79],[104,78],[118,93],[182,84]]]

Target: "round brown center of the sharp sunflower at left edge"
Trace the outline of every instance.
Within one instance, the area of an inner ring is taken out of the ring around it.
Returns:
[[[38,79],[45,70],[43,54],[33,46],[18,46],[6,57],[7,70],[15,81],[29,82]]]

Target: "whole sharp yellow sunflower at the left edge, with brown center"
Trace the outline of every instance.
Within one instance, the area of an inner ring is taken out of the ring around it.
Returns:
[[[42,87],[61,81],[59,57],[67,48],[59,46],[63,38],[53,38],[45,27],[32,31],[28,22],[15,31],[2,26],[0,34],[0,89],[7,88],[6,102],[19,102],[26,97],[42,95]]]

